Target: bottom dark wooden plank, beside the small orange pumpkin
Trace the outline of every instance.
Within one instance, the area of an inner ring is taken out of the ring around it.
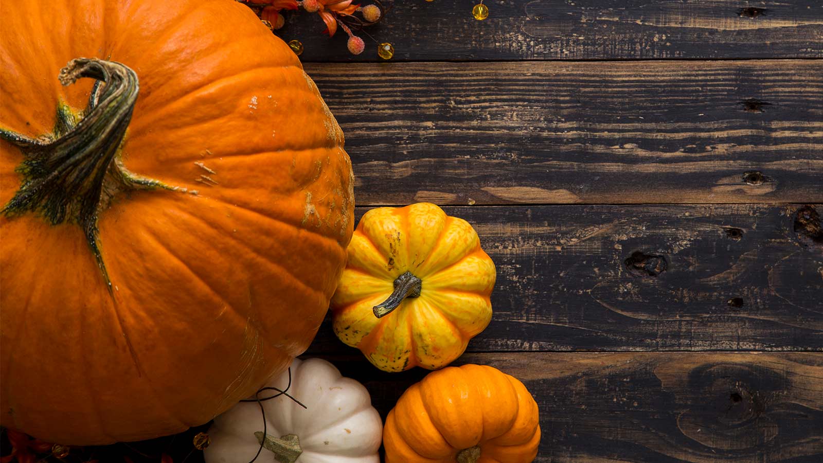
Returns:
[[[329,358],[385,417],[425,371]],[[541,410],[536,462],[823,460],[823,353],[467,354],[518,377]]]

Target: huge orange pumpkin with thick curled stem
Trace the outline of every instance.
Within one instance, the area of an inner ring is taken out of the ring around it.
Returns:
[[[2,16],[0,423],[65,444],[206,423],[323,320],[352,232],[341,130],[234,0]]]

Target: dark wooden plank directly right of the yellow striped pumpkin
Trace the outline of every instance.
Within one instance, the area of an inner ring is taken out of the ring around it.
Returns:
[[[469,351],[823,350],[821,206],[445,210],[497,267]],[[328,320],[310,352],[357,353]]]

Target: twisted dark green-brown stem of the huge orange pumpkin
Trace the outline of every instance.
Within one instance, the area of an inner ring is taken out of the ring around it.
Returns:
[[[77,58],[60,71],[58,78],[68,86],[81,77],[97,80],[82,119],[60,104],[53,133],[35,139],[0,129],[0,138],[23,153],[24,161],[17,171],[25,178],[2,213],[7,217],[39,213],[53,225],[77,223],[85,232],[110,292],[111,282],[97,242],[100,209],[124,188],[180,189],[134,175],[116,157],[137,101],[137,74],[114,61]]]

